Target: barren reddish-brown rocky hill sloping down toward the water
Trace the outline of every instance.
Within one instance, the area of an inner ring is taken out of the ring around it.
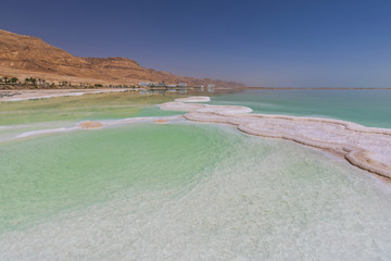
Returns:
[[[177,76],[144,69],[126,58],[79,58],[43,40],[0,29],[0,76],[20,79],[36,77],[51,82],[78,84],[131,85],[139,82],[162,82],[189,85],[215,84],[240,87],[239,83]]]

